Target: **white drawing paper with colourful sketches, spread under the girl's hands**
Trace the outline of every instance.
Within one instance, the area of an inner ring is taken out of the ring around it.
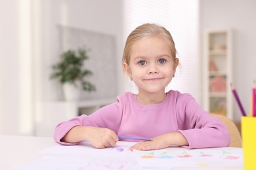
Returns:
[[[41,150],[45,154],[18,169],[171,169],[173,167],[243,167],[242,148],[133,150],[135,143],[96,149],[89,143],[58,145]]]

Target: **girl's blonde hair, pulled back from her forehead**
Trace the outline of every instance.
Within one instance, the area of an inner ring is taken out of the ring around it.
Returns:
[[[145,38],[145,37],[153,37],[156,35],[160,35],[165,39],[167,44],[169,44],[171,55],[173,57],[173,61],[175,62],[176,53],[177,50],[175,48],[175,43],[173,41],[173,37],[171,36],[171,33],[165,29],[165,27],[162,27],[160,25],[156,24],[143,24],[137,27],[135,30],[133,30],[130,35],[127,37],[127,40],[125,42],[125,48],[123,50],[123,59],[122,63],[127,63],[129,65],[130,58],[131,58],[131,48],[135,41],[138,41],[139,39]]]

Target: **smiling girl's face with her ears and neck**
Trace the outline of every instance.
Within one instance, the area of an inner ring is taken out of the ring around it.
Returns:
[[[130,63],[123,63],[139,93],[163,92],[175,74],[179,59],[173,61],[171,50],[160,36],[146,37],[133,44]]]

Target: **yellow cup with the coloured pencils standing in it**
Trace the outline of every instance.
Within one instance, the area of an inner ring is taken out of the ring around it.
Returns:
[[[251,93],[251,109],[250,114],[245,114],[244,108],[236,88],[231,84],[231,89],[238,103],[242,114],[242,146],[244,152],[244,169],[256,169],[255,153],[256,153],[256,83],[253,82],[253,90]]]

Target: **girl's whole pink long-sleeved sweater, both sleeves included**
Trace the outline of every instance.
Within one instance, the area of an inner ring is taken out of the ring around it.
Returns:
[[[179,131],[186,137],[185,148],[221,147],[230,144],[228,129],[219,118],[209,116],[188,93],[169,91],[156,105],[140,105],[133,93],[117,96],[116,103],[93,114],[81,115],[56,126],[54,140],[60,139],[74,126],[107,127],[117,135],[156,137]]]

